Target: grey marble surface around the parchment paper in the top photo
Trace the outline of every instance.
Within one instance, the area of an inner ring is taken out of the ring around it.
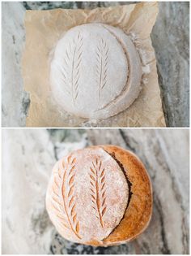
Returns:
[[[23,91],[21,55],[28,10],[109,7],[129,2],[2,2],[2,125],[25,126],[28,93]],[[11,17],[11,18],[10,18]],[[159,2],[151,33],[166,124],[189,126],[189,2]],[[91,124],[93,125],[93,124]],[[89,126],[89,123],[84,124]]]

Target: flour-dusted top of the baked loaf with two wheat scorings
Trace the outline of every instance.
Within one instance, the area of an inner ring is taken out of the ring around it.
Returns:
[[[101,242],[120,223],[128,195],[117,162],[103,149],[89,148],[57,163],[48,209],[62,236],[71,241]]]

